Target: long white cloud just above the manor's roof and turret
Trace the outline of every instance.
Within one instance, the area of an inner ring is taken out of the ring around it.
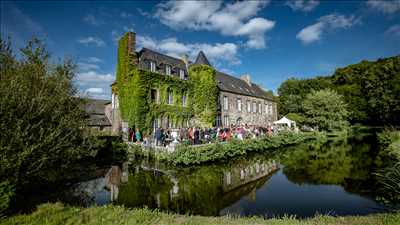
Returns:
[[[163,40],[156,40],[149,36],[136,37],[137,47],[146,47],[156,51],[163,52],[165,54],[180,58],[184,54],[194,60],[200,50],[204,51],[207,58],[214,63],[223,61],[229,64],[240,64],[240,60],[237,58],[238,47],[233,43],[194,43],[185,44],[178,42],[176,38],[167,38]]]

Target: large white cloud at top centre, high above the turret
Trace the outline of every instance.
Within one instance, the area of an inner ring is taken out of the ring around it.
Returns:
[[[168,1],[157,5],[155,17],[173,29],[217,31],[245,36],[250,48],[265,48],[265,33],[275,22],[255,17],[269,1]]]

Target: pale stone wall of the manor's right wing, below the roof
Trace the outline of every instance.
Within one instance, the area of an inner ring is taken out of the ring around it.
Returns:
[[[224,97],[227,97],[228,107],[224,107]],[[241,124],[255,125],[255,126],[268,126],[277,120],[276,103],[262,98],[251,96],[239,95],[230,92],[221,91],[219,94],[220,103],[220,118],[222,126],[226,126],[225,118],[228,119],[228,124]],[[241,110],[238,107],[238,99],[241,100]],[[247,108],[247,102],[250,102],[250,112]],[[255,112],[253,111],[255,103]],[[260,104],[260,105],[259,105]],[[259,111],[261,106],[261,111]]]

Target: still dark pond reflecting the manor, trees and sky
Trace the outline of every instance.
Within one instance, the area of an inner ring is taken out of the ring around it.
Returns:
[[[58,199],[205,216],[366,215],[386,210],[375,200],[376,148],[366,133],[190,168],[136,158],[101,170]]]

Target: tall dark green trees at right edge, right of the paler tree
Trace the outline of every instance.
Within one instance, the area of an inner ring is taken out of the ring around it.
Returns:
[[[353,122],[400,124],[400,56],[338,69],[332,81]]]

